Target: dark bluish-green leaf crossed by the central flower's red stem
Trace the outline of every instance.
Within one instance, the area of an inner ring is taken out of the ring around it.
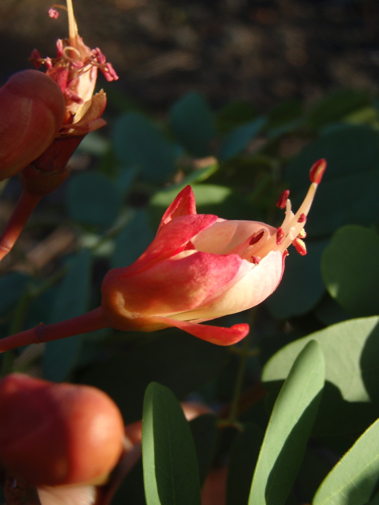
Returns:
[[[53,304],[50,323],[84,314],[89,305],[91,253],[83,249],[73,259],[61,282]],[[47,342],[43,355],[45,379],[62,381],[73,370],[81,348],[81,335]]]

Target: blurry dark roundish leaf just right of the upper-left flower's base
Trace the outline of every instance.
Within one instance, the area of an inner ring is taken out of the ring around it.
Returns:
[[[116,185],[105,175],[82,172],[69,181],[67,205],[69,215],[75,221],[108,228],[120,212],[122,196]]]

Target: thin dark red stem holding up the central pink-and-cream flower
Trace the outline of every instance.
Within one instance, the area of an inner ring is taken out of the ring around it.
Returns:
[[[41,342],[50,342],[60,338],[72,337],[89,331],[108,328],[109,322],[103,315],[101,307],[87,312],[82,316],[67,319],[60,323],[43,323],[31,328],[30,330],[15,333],[9,337],[0,339],[0,352],[15,349],[21,345],[39,344]]]

